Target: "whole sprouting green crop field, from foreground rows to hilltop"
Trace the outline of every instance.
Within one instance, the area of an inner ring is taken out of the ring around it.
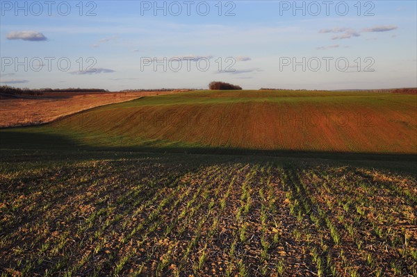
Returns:
[[[0,130],[1,276],[416,276],[416,97],[187,92]]]

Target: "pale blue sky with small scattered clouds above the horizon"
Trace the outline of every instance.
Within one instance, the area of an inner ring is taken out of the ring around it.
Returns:
[[[1,85],[417,86],[417,1],[0,3]]]

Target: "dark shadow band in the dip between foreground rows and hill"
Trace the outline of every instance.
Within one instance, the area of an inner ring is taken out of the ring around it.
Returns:
[[[199,159],[213,156],[231,156],[229,158],[239,158],[240,160],[256,161],[279,158],[282,160],[307,160],[319,163],[348,162],[349,165],[362,167],[380,167],[383,169],[393,169],[401,171],[416,172],[416,154],[396,154],[396,153],[343,153],[325,151],[270,151],[252,149],[226,149],[218,147],[153,147],[153,146],[90,146],[80,144],[76,140],[70,140],[65,135],[56,133],[25,132],[22,129],[0,131],[0,149],[2,152],[10,150],[24,151],[24,153],[53,153],[50,158],[62,160],[62,158],[72,160],[85,160],[89,158],[119,156],[142,156],[143,153],[154,154],[161,157],[175,156],[178,154],[190,157],[200,155]],[[59,155],[61,154],[61,155]],[[202,157],[201,155],[204,155]],[[1,160],[5,161],[6,156],[2,155]],[[22,158],[22,157],[21,157]],[[47,158],[47,157],[44,157]],[[49,158],[47,158],[49,159]],[[212,159],[212,158],[210,158]]]

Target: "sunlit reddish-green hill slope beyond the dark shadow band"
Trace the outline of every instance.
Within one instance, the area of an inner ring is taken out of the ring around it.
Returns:
[[[22,132],[98,147],[416,154],[417,96],[187,92],[95,108],[38,128],[1,131],[2,144],[17,142],[12,134]]]

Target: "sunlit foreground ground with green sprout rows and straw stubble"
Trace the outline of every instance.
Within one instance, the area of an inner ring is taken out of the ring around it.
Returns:
[[[413,176],[114,158],[9,161],[0,187],[2,276],[417,274]]]

